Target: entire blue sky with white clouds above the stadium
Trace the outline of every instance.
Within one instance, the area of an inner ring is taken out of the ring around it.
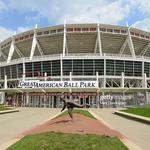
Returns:
[[[0,0],[0,40],[66,23],[133,26],[150,32],[150,0]]]

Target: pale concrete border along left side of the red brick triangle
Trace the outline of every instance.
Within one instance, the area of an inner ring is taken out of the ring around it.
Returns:
[[[52,116],[52,117],[50,117],[50,118],[48,118],[48,119],[42,121],[42,122],[39,123],[39,124],[36,124],[34,127],[30,128],[30,129],[28,129],[28,130],[26,130],[26,131],[32,130],[33,128],[35,128],[35,127],[37,127],[37,126],[40,126],[40,125],[42,125],[43,123],[45,123],[45,122],[47,122],[47,121],[49,121],[49,120],[54,119],[55,117],[57,117],[57,116],[60,115],[61,113],[62,113],[62,112],[57,113],[56,115],[54,115],[54,116]],[[24,132],[26,132],[26,131],[23,131],[23,132],[21,132],[20,134],[22,134],[22,133],[24,133]],[[6,149],[9,148],[11,145],[13,145],[13,144],[15,144],[17,141],[21,140],[22,138],[23,138],[23,137],[14,138],[14,139],[11,139],[11,140],[5,142],[4,144],[0,145],[0,150],[6,150]]]

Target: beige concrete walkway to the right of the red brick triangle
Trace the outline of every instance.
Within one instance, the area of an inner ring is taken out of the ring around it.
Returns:
[[[121,132],[141,149],[149,150],[150,126],[115,115],[113,114],[114,110],[113,108],[91,109],[109,126]]]

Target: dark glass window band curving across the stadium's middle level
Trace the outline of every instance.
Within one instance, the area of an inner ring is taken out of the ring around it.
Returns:
[[[26,77],[44,76],[60,76],[61,61],[39,61],[25,63]],[[72,59],[62,60],[63,75],[75,76],[94,76],[96,72],[99,75],[104,75],[104,59]],[[126,60],[110,60],[106,59],[106,75],[120,76],[124,72],[125,76],[142,76],[142,62],[126,61]],[[144,73],[147,77],[150,76],[150,63],[144,63]],[[6,67],[0,67],[0,79],[3,80],[5,74],[8,79],[21,78],[23,74],[23,64],[16,64]]]

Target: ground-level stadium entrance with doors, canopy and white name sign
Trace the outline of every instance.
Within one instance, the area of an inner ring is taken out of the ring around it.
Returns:
[[[17,88],[6,89],[1,98],[5,104],[22,107],[61,108],[60,97],[92,108],[124,107],[149,103],[147,89],[100,88],[96,81],[22,80]],[[4,97],[5,96],[5,97]]]

